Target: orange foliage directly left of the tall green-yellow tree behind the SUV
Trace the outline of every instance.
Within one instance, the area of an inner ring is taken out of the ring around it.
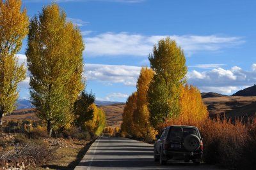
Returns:
[[[156,131],[149,122],[150,113],[148,111],[148,85],[154,76],[154,71],[147,67],[142,67],[137,81],[136,97],[131,96],[123,113],[122,134],[143,138],[145,141],[152,141]],[[133,99],[134,98],[134,99]]]

